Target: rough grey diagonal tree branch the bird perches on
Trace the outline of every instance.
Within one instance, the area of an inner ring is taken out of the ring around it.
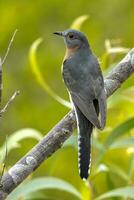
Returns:
[[[111,96],[134,72],[134,49],[105,78],[107,97]],[[0,199],[3,200],[30,173],[58,150],[76,127],[74,111],[70,111],[33,149],[3,175]]]

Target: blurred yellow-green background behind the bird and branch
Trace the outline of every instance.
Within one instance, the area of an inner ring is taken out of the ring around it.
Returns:
[[[47,134],[69,111],[67,107],[55,101],[40,87],[31,70],[29,51],[36,39],[43,38],[43,42],[36,52],[41,74],[50,88],[67,100],[68,95],[61,77],[65,45],[60,38],[52,34],[54,31],[65,30],[77,17],[88,15],[89,19],[83,23],[81,30],[88,36],[94,53],[101,61],[105,75],[124,56],[126,48],[134,46],[133,0],[1,0],[0,11],[0,56],[2,58],[13,32],[16,28],[18,29],[3,66],[2,105],[15,90],[20,90],[20,95],[0,120],[1,146],[7,134],[12,135],[18,131],[21,135],[20,130],[24,128],[36,129],[42,135]],[[109,43],[111,47],[109,47]],[[111,49],[114,52],[112,54],[110,53]],[[30,181],[38,176],[63,179],[77,188],[85,200],[90,197],[95,199],[105,192],[120,187],[125,189],[130,187],[129,189],[131,189],[134,181],[133,84],[134,77],[132,76],[108,100],[107,126],[102,133],[94,131],[92,170],[88,183],[83,183],[78,175],[75,135],[71,137],[64,148],[53,154],[36,170],[32,179],[30,177]],[[32,136],[31,138],[24,136],[23,140],[20,139],[20,148],[12,150],[8,154],[7,168],[36,144],[40,137],[35,135],[33,139]],[[15,140],[12,140],[12,143]],[[52,192],[50,192],[51,190]],[[21,191],[25,194],[23,187]],[[129,194],[131,192],[129,191]],[[73,194],[66,193],[65,195],[63,191],[55,189],[51,185],[49,190],[39,190],[34,197],[22,196],[24,199],[71,200],[78,198]],[[134,194],[131,194],[134,199]],[[120,197],[109,197],[109,199],[124,198],[121,195],[114,196]],[[131,199],[132,196],[129,197]],[[16,199],[18,198],[16,197]],[[108,199],[108,197],[106,198]],[[9,199],[13,199],[13,197]]]

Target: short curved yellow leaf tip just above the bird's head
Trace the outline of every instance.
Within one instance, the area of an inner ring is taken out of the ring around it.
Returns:
[[[82,24],[89,18],[88,15],[82,15],[80,17],[77,17],[73,23],[71,24],[72,29],[80,30]]]

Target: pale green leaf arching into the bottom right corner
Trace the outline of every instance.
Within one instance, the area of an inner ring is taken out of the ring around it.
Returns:
[[[107,199],[111,197],[124,197],[124,198],[134,199],[134,187],[133,186],[122,187],[115,190],[111,190],[95,198],[95,200],[102,200],[102,199]]]

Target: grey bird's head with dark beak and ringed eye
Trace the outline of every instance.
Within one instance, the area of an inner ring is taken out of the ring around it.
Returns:
[[[68,29],[65,31],[54,32],[54,34],[62,36],[64,38],[67,48],[69,49],[89,47],[86,36],[80,31]]]

